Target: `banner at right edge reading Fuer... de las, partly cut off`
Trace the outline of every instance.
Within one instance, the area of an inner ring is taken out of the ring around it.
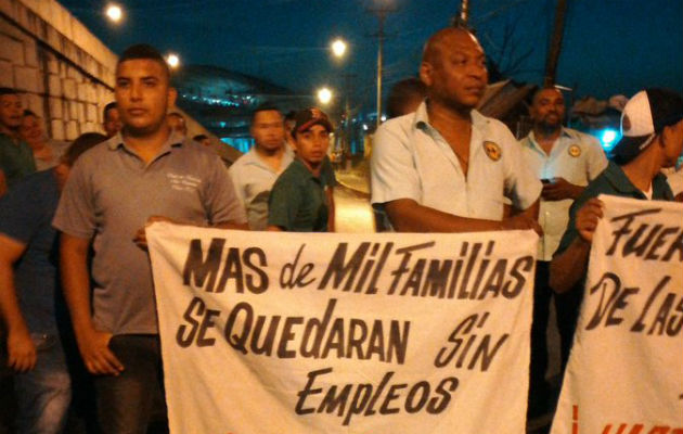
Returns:
[[[683,205],[601,195],[552,434],[683,434]]]

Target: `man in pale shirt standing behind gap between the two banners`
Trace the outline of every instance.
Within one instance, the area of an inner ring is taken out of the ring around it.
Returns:
[[[529,115],[533,128],[520,141],[525,164],[543,182],[539,224],[543,237],[539,240],[533,289],[533,321],[531,326],[531,376],[529,381],[529,414],[549,411],[550,386],[545,382],[547,344],[545,331],[553,291],[549,285],[550,261],[567,228],[569,207],[585,186],[607,167],[607,157],[597,139],[563,127],[565,100],[556,88],[544,88],[533,94]],[[557,328],[560,335],[563,367],[571,346],[571,315],[567,306],[576,303],[555,296]]]

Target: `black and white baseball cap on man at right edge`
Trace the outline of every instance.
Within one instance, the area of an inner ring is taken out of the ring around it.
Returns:
[[[643,152],[670,125],[683,119],[683,98],[667,89],[641,90],[627,102],[621,113],[621,139],[611,156],[628,163]]]

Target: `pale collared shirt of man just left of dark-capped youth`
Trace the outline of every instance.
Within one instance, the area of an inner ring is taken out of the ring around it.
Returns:
[[[268,226],[268,196],[278,177],[294,159],[289,146],[285,145],[280,170],[268,165],[253,148],[237,158],[230,169],[232,183],[235,186],[237,197],[242,203],[252,230],[265,230]]]

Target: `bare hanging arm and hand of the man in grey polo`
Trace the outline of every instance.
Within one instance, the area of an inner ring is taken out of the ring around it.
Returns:
[[[72,316],[78,349],[88,371],[118,375],[124,366],[108,348],[112,334],[96,330],[90,314],[88,247],[90,241],[62,232],[60,269],[64,297]]]

